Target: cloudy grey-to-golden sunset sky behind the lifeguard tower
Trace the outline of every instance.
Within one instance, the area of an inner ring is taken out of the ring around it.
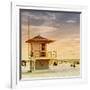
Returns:
[[[59,59],[80,59],[80,13],[60,11],[21,10],[22,59],[28,59],[29,38],[41,35],[55,40],[48,51],[57,51]]]

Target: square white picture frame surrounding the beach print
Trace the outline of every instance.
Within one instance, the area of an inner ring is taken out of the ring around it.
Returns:
[[[81,12],[80,24],[80,58],[81,58],[81,75],[79,78],[64,78],[53,80],[38,80],[37,81],[20,81],[19,80],[19,9],[35,9],[35,10],[54,10],[54,11],[70,11]],[[32,86],[46,86],[46,85],[65,85],[65,84],[79,84],[87,82],[87,7],[73,6],[73,5],[59,5],[59,4],[45,4],[45,3],[26,3],[13,2],[11,3],[11,87],[32,87]]]

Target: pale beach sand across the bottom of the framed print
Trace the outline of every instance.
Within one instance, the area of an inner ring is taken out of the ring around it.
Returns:
[[[27,72],[29,65],[22,68],[22,80],[38,79],[38,78],[70,78],[80,76],[80,64],[76,67],[71,67],[70,63],[58,64],[57,66],[50,65],[48,70],[35,70]]]

